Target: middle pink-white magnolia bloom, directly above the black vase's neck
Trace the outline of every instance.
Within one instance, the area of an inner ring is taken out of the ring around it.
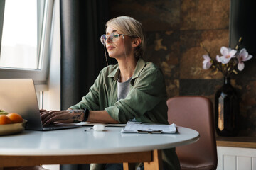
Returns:
[[[222,64],[227,64],[231,58],[235,57],[235,53],[237,51],[227,48],[227,47],[221,47],[220,48],[220,53],[222,56],[217,55],[216,60],[218,62],[221,62]]]

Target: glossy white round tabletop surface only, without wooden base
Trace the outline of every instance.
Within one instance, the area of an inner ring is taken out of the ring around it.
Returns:
[[[0,137],[0,155],[80,155],[144,152],[188,145],[199,138],[196,130],[177,127],[176,134],[122,133],[122,127],[97,132],[90,127],[65,130],[24,130]],[[86,130],[86,131],[85,131]]]

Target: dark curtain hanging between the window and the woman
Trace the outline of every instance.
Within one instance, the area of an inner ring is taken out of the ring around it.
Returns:
[[[107,66],[99,38],[105,33],[108,16],[107,0],[60,0],[62,110],[78,103]],[[86,169],[85,166],[62,165],[60,169]]]

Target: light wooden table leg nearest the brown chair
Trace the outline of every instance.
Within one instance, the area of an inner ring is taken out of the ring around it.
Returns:
[[[153,161],[151,162],[144,162],[144,169],[145,170],[162,170],[163,169],[163,162],[161,157],[161,150],[154,150],[152,152]]]

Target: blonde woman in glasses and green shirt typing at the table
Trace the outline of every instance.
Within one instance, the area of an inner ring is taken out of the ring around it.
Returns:
[[[127,123],[132,119],[169,124],[163,74],[153,63],[142,60],[146,48],[142,24],[128,16],[113,18],[100,40],[118,64],[102,69],[89,93],[75,106],[67,111],[43,111],[43,123]],[[180,169],[175,148],[162,153],[165,169]],[[93,164],[91,169],[97,166]]]

